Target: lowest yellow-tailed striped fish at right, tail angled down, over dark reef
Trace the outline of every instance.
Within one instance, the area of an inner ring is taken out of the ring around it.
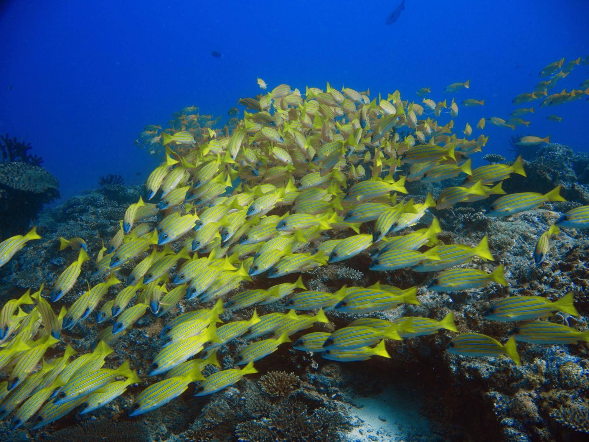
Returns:
[[[517,353],[515,339],[509,338],[505,345],[497,339],[479,333],[463,333],[450,342],[446,351],[455,355],[465,356],[491,356],[507,355],[517,365],[521,365],[521,359]]]

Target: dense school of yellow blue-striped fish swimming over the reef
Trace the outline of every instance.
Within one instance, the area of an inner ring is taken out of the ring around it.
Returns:
[[[550,75],[549,83],[555,83],[580,62],[563,66],[561,60],[541,75]],[[262,79],[257,83],[266,90]],[[545,86],[541,95],[547,95],[550,85]],[[462,88],[469,88],[469,81],[449,85],[446,92]],[[472,170],[470,157],[484,148],[488,138],[484,134],[469,138],[473,129],[468,125],[461,138],[454,133],[452,120],[439,124],[435,118],[446,101],[425,98],[429,93],[429,88],[418,91],[424,97],[422,105],[402,100],[399,91],[386,99],[371,99],[369,91],[336,90],[329,84],[325,90],[306,88],[305,94],[281,84],[256,98],[240,99],[247,110],[231,128],[201,126],[203,121],[191,114],[194,107],[178,113],[170,124],[173,128],[157,134],[157,142],[166,148],[166,160],[150,174],[145,196],[128,207],[120,230],[107,245],[91,259],[84,239],[60,238],[60,249],[77,250],[78,257],[54,286],[49,290],[41,286],[32,295],[27,291],[2,306],[0,370],[8,380],[0,383],[1,417],[11,415],[13,429],[30,418],[32,428],[39,428],[74,408],[90,413],[130,385],[143,382],[150,385],[135,397],[131,416],[161,407],[191,382],[197,383],[195,396],[213,394],[257,372],[253,363],[291,342],[292,335],[316,322],[328,323],[330,311],[364,316],[333,333],[302,335],[293,348],[335,361],[362,361],[375,355],[390,357],[386,339],[431,335],[441,329],[458,332],[452,314],[440,321],[406,316],[389,322],[366,316],[402,304],[419,305],[417,287],[376,283],[342,286],[329,293],[307,290],[303,279],[310,269],[369,253],[370,271],[432,272],[424,291],[462,291],[494,282],[507,285],[503,265],[491,273],[456,267],[475,256],[494,260],[487,236],[474,247],[445,245],[436,236],[441,228],[435,217],[422,229],[409,227],[419,223],[430,207],[444,210],[497,194],[504,196],[485,215],[514,215],[564,200],[560,188],[544,195],[505,194],[503,180],[513,173],[525,176],[521,158],[513,164]],[[550,95],[542,104],[560,104],[587,94],[589,90]],[[529,98],[535,98],[534,93],[525,101]],[[521,97],[516,100],[524,102]],[[484,100],[462,104],[484,105]],[[458,113],[455,100],[449,113],[453,117]],[[499,126],[515,125],[511,120],[490,120]],[[484,127],[484,120],[477,127]],[[158,129],[145,130],[156,134]],[[524,137],[520,142],[544,141],[547,138]],[[405,188],[406,182],[441,182],[461,173],[466,176],[464,183],[446,187],[436,200],[428,194],[416,202]],[[589,206],[565,213],[541,236],[533,257],[538,265],[559,227],[589,227]],[[32,229],[0,243],[0,266],[39,238]],[[87,262],[92,276],[102,282],[57,311],[54,303],[72,291]],[[291,273],[303,275],[294,282],[272,284],[271,279]],[[241,283],[251,281],[264,288],[237,291]],[[177,315],[176,306],[183,299],[186,311]],[[272,303],[280,299],[288,311],[272,311]],[[221,324],[224,311],[250,306],[256,307],[250,319]],[[264,314],[258,315],[258,309]],[[315,314],[304,313],[308,311]],[[99,324],[105,324],[92,352],[71,359],[76,351],[68,345],[64,354],[45,361],[45,352],[64,337],[62,330],[71,330],[92,312]],[[161,351],[148,379],[140,379],[128,361],[118,368],[103,368],[112,344],[138,319],[168,312]],[[515,341],[589,341],[589,332],[536,320],[554,312],[578,315],[573,295],[557,301],[542,296],[499,299],[485,318],[525,321],[512,330],[507,343],[463,333],[452,339],[448,351],[508,355],[519,364]],[[236,338],[250,340],[234,358],[243,368],[216,371],[205,378],[204,367],[219,366],[216,349]],[[164,376],[152,381],[157,375]]]

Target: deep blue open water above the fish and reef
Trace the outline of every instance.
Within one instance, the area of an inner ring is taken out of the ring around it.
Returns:
[[[373,96],[401,90],[408,100],[431,86],[471,79],[456,94],[485,100],[461,107],[466,121],[508,118],[512,98],[531,92],[548,63],[589,55],[586,0],[406,0],[385,25],[393,1],[5,1],[0,6],[0,132],[26,138],[59,177],[62,196],[118,173],[141,183],[157,159],[133,146],[146,124],[166,124],[197,105],[224,114],[237,98],[287,83],[325,87],[330,81]],[[217,50],[223,58],[211,57]],[[589,65],[552,90],[578,88]],[[9,87],[12,85],[12,89]],[[514,133],[551,135],[589,150],[585,99],[538,108],[529,130],[493,127],[487,152],[505,153]],[[546,120],[548,114],[562,123]],[[445,114],[440,121],[448,121]],[[474,131],[478,136],[481,131]],[[135,172],[141,171],[141,176]]]

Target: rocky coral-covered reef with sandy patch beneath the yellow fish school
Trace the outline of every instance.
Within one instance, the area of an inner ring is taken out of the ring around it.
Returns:
[[[528,155],[528,153],[527,153]],[[524,165],[527,180],[511,177],[504,183],[508,193],[528,191],[530,182],[538,192],[561,185],[566,203],[547,204],[542,209],[508,218],[491,219],[481,215],[491,200],[460,204],[449,210],[432,210],[422,219],[429,224],[437,216],[445,243],[474,246],[489,235],[495,263],[475,261],[490,271],[497,263],[505,265],[509,287],[489,285],[483,289],[437,293],[420,289],[421,305],[402,305],[393,311],[370,316],[394,320],[401,316],[428,316],[442,319],[454,312],[460,332],[474,331],[505,337],[512,324],[486,321],[481,314],[489,303],[507,295],[560,297],[573,291],[575,306],[583,322],[558,317],[561,322],[587,329],[589,316],[589,235],[587,231],[561,229],[553,238],[548,257],[536,266],[532,253],[538,236],[560,212],[589,203],[589,155],[575,153],[560,144],[550,144],[528,155]],[[524,158],[525,160],[525,158]],[[455,179],[460,183],[461,179]],[[528,184],[527,184],[528,183]],[[452,184],[444,183],[444,187]],[[425,198],[442,187],[412,183],[409,192]],[[46,209],[37,225],[42,239],[23,249],[0,269],[2,302],[22,293],[23,288],[41,283],[51,285],[66,262],[75,259],[71,249],[58,250],[58,237],[80,236],[95,254],[100,238],[111,238],[118,230],[128,204],[137,201],[141,187],[106,184],[101,189],[73,197],[61,206]],[[419,199],[419,198],[416,198]],[[421,226],[416,226],[421,227]],[[431,274],[411,270],[373,272],[365,253],[354,259],[303,273],[307,289],[336,291],[344,283],[367,286],[376,281],[409,287],[423,287]],[[54,267],[52,271],[52,265]],[[82,277],[88,278],[91,266]],[[125,266],[120,276],[131,268]],[[289,275],[280,282],[294,282]],[[515,282],[517,281],[517,283]],[[61,303],[70,305],[85,289],[77,286]],[[240,289],[265,287],[255,279]],[[111,298],[106,298],[111,299]],[[277,311],[284,301],[269,311]],[[173,311],[154,318],[146,315],[112,346],[115,353],[108,364],[130,359],[141,373],[160,349],[157,339],[162,327],[188,303],[181,301]],[[100,306],[98,307],[100,308]],[[226,312],[223,321],[249,319],[253,307]],[[258,306],[263,314],[263,306]],[[366,315],[364,315],[366,316]],[[313,331],[333,331],[348,324],[354,316],[330,313],[330,324],[315,324]],[[87,351],[98,332],[105,327],[89,319],[72,332],[64,332],[62,349],[69,342]],[[291,339],[296,339],[299,332]],[[139,418],[128,418],[132,398],[144,387],[131,387],[125,394],[91,415],[70,414],[38,431],[19,429],[9,433],[8,423],[0,423],[1,440],[39,441],[575,441],[589,433],[589,344],[528,345],[519,342],[522,365],[507,358],[468,358],[448,354],[445,347],[452,333],[388,341],[392,359],[337,363],[326,361],[284,345],[256,363],[259,375],[243,378],[217,394],[194,398],[189,388],[178,400]],[[233,365],[233,357],[245,342],[237,339],[221,347],[218,358],[223,368]],[[207,367],[211,370],[213,367]],[[205,375],[207,375],[207,370]],[[140,373],[140,374],[141,374]]]

